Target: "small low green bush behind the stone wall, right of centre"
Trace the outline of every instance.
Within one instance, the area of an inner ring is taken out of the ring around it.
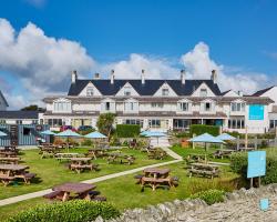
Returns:
[[[208,205],[212,205],[214,203],[219,203],[224,201],[224,191],[219,190],[207,190],[207,191],[201,191],[198,193],[195,193],[191,195],[191,199],[202,199],[204,200]]]

